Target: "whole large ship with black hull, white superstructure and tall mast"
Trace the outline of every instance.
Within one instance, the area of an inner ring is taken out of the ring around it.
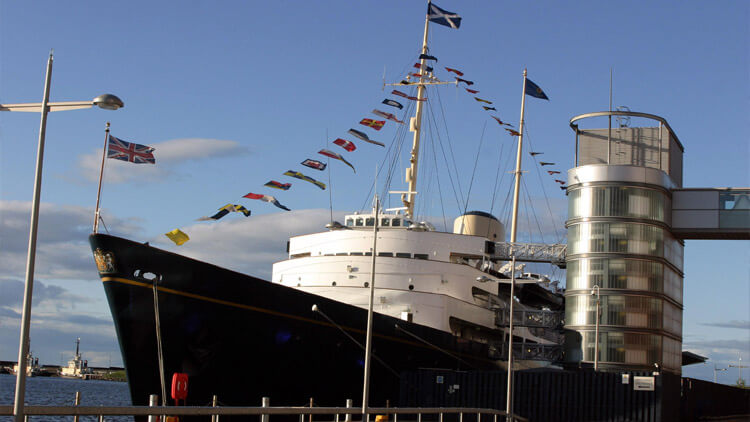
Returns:
[[[552,330],[519,327],[510,336],[503,323],[512,304],[559,311],[563,298],[548,279],[522,277],[522,266],[501,253],[506,233],[496,217],[465,212],[452,231],[440,231],[415,215],[425,92],[458,84],[439,81],[428,66],[430,22],[428,12],[418,73],[393,84],[416,89],[408,188],[396,192],[403,207],[381,210],[375,197],[371,210],[290,238],[270,280],[95,229],[90,244],[134,405],[147,405],[151,394],[172,404],[175,373],[188,376],[187,405],[213,397],[245,406],[262,397],[285,406],[357,402],[368,325],[370,406],[398,405],[400,392],[417,388],[404,381],[408,371],[504,369],[516,354],[511,340],[559,346]],[[515,284],[523,295],[513,293]],[[521,358],[514,367],[550,360]]]

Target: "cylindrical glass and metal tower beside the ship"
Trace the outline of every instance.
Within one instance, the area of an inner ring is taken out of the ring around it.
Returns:
[[[615,116],[617,127],[577,124],[602,116]],[[630,118],[652,125],[630,127]],[[670,189],[682,185],[682,145],[664,119],[644,113],[590,113],[571,119],[571,127],[566,360],[679,373],[683,243],[671,232]]]

